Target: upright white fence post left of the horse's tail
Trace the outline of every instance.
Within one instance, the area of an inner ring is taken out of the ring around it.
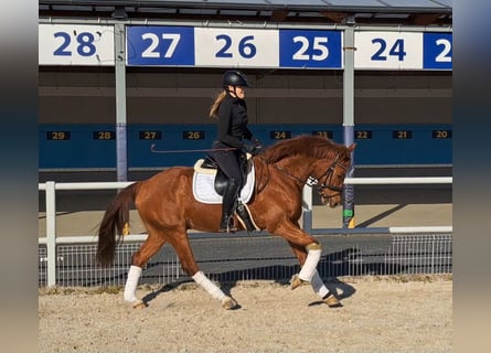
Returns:
[[[46,181],[47,286],[56,285],[56,196],[54,181]]]

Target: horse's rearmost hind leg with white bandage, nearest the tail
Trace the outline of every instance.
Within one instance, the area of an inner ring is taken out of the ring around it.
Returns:
[[[137,298],[138,281],[141,276],[141,268],[147,261],[166,244],[166,238],[158,233],[149,233],[147,240],[132,256],[128,278],[125,285],[125,301],[130,302],[134,308],[142,308],[145,303]]]

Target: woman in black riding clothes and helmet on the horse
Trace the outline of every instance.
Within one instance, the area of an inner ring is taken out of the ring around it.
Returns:
[[[247,77],[238,71],[227,71],[222,77],[223,90],[218,94],[212,107],[210,117],[216,118],[216,140],[213,142],[212,157],[221,170],[228,178],[222,200],[222,220],[218,232],[237,231],[234,221],[234,204],[238,192],[244,184],[241,171],[241,154],[244,150],[253,154],[261,148],[261,143],[247,128],[247,107],[244,100],[245,87],[248,87]],[[245,145],[244,140],[254,145]]]

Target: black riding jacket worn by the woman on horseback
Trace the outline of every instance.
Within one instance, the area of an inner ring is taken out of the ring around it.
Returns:
[[[247,128],[247,107],[244,99],[225,96],[218,108],[216,141],[227,147],[244,147],[244,139],[253,139]]]

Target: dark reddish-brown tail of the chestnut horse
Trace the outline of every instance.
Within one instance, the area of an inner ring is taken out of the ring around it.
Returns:
[[[100,222],[97,244],[97,263],[102,266],[113,264],[116,249],[116,235],[118,242],[129,225],[129,207],[135,201],[139,183],[132,183],[122,189],[107,207]]]

